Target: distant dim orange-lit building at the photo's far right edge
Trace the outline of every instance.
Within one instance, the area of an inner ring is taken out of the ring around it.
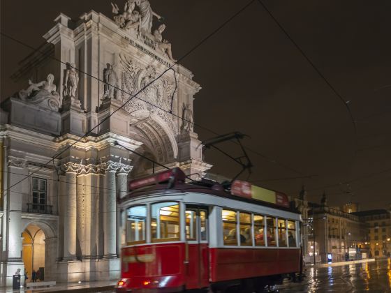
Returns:
[[[390,210],[374,209],[353,213],[367,224],[367,246],[373,257],[385,257],[391,254],[391,217]]]

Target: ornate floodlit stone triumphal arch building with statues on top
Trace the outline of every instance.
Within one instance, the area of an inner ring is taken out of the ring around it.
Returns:
[[[27,85],[1,103],[1,285],[17,269],[58,282],[119,277],[117,197],[159,168],[132,151],[193,178],[211,167],[193,132],[200,86],[174,64],[164,27],[152,33],[146,4],[113,20],[60,14],[13,75]]]

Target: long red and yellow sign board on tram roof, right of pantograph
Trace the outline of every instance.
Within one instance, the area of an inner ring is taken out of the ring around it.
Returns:
[[[274,190],[252,185],[247,181],[233,181],[231,186],[231,194],[240,197],[251,198],[253,200],[270,202],[271,204],[276,204],[278,206],[289,207],[288,196]]]

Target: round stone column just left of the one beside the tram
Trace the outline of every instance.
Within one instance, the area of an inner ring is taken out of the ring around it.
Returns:
[[[105,170],[105,189],[103,190],[103,256],[106,258],[117,257],[117,199],[115,173],[119,163],[108,161],[101,164]]]

